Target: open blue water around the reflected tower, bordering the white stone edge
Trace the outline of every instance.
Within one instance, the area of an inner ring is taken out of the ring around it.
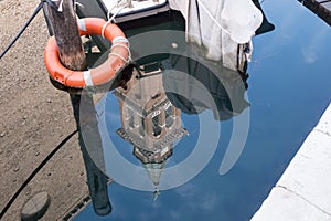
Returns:
[[[331,103],[329,25],[296,0],[266,0],[263,8],[276,30],[253,40],[247,82],[249,133],[229,172],[218,175],[225,152],[222,147],[228,143],[232,120],[221,123],[220,148],[191,181],[161,191],[157,201],[152,192],[114,182],[108,187],[113,204],[109,215],[96,215],[89,204],[75,220],[241,221],[252,218]],[[107,99],[117,103],[113,95]],[[116,113],[117,108],[113,110]],[[196,126],[194,116],[182,116],[185,127]],[[113,124],[115,129],[120,126],[119,119]],[[182,139],[182,146],[196,137],[194,133],[191,129],[190,136]],[[125,158],[135,161],[130,145],[120,138],[117,143]],[[188,154],[188,149],[175,147],[169,165],[183,160]]]

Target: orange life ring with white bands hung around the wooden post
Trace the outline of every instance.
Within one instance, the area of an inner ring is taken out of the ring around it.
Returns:
[[[63,66],[58,57],[55,38],[52,36],[44,50],[44,63],[50,76],[70,87],[97,86],[113,80],[130,61],[129,42],[124,32],[113,23],[99,18],[86,18],[77,21],[81,35],[103,35],[111,42],[108,59],[88,71],[72,71]]]

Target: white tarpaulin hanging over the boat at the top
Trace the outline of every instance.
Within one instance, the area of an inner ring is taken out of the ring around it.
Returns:
[[[169,0],[169,4],[185,18],[186,40],[205,46],[207,59],[223,60],[231,69],[238,44],[250,42],[263,22],[252,0]]]

